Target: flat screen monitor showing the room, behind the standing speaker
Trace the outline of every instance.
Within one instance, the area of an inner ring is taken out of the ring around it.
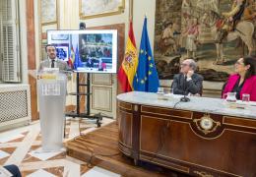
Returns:
[[[47,30],[47,43],[75,72],[116,73],[116,29]]]

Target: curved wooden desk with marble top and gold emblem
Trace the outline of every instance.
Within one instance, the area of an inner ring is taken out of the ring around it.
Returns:
[[[117,96],[119,149],[138,160],[201,177],[256,176],[256,107],[230,109],[224,100],[156,93]]]

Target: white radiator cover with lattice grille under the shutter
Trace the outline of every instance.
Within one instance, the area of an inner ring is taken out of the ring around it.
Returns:
[[[0,85],[0,130],[31,122],[29,85]]]

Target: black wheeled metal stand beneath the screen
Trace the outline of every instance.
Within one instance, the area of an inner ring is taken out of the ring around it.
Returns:
[[[80,118],[86,118],[86,119],[96,119],[96,125],[97,127],[100,127],[101,120],[102,120],[102,115],[99,113],[95,115],[91,115],[91,74],[87,73],[87,83],[86,84],[81,84],[80,83],[80,74],[77,73],[77,92],[71,92],[69,93],[70,95],[76,95],[77,96],[77,108],[76,111],[68,112],[66,113],[66,117],[80,117]],[[87,87],[87,92],[80,92],[80,87]],[[86,95],[87,98],[87,110],[85,113],[80,112],[80,98],[82,95]],[[65,135],[64,135],[65,136]]]

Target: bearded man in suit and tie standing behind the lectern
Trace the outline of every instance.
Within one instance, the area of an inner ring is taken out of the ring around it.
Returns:
[[[59,71],[70,70],[67,62],[57,58],[57,50],[53,44],[47,44],[45,46],[45,51],[47,53],[48,58],[40,63],[39,71],[43,70],[43,68],[59,68]]]

